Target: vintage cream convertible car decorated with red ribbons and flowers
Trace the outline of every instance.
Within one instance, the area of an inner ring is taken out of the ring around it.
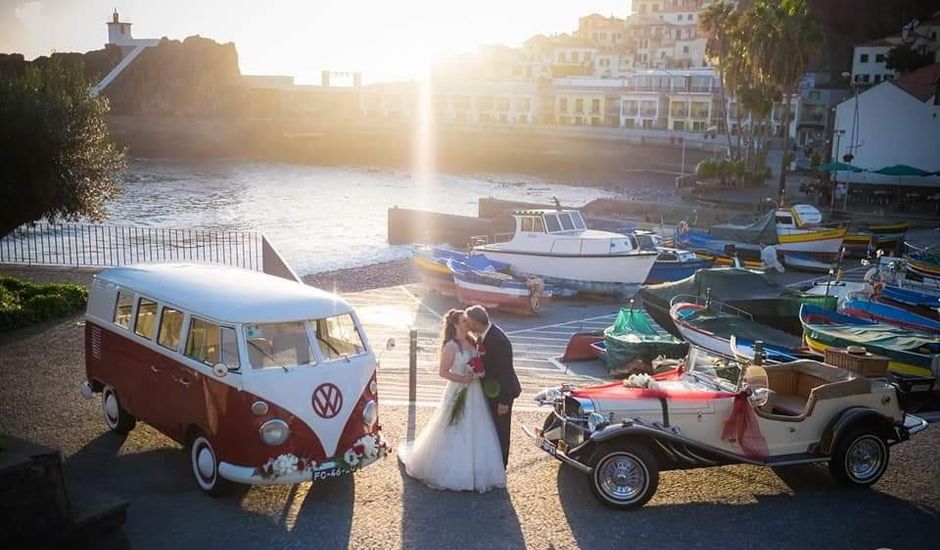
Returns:
[[[692,348],[655,378],[543,390],[536,401],[551,414],[523,429],[587,474],[602,503],[630,509],[653,496],[660,471],[725,464],[828,462],[839,481],[869,486],[889,448],[927,427],[901,410],[889,382],[816,361],[748,366]]]

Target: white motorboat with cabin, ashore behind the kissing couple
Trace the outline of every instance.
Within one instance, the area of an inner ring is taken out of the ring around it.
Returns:
[[[518,276],[536,276],[581,292],[630,296],[646,280],[657,252],[640,250],[636,239],[587,229],[577,210],[521,210],[506,240],[474,249],[509,264]]]

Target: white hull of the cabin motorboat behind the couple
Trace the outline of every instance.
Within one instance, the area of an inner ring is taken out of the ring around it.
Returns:
[[[491,260],[509,264],[518,277],[535,276],[548,284],[614,296],[635,294],[656,262],[656,253],[559,256],[490,247],[481,251]]]

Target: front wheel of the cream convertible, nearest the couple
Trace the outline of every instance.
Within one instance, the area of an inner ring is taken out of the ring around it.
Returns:
[[[656,457],[636,442],[604,445],[591,462],[591,492],[605,506],[618,510],[639,508],[659,486]]]

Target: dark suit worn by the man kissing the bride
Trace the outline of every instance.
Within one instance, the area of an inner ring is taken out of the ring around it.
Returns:
[[[496,433],[499,435],[499,445],[503,451],[503,465],[509,462],[509,434],[512,427],[512,402],[522,393],[516,369],[512,365],[512,343],[509,337],[496,325],[490,325],[490,330],[483,339],[483,367],[486,375],[483,377],[483,389],[490,402],[490,412],[496,424]],[[497,414],[497,405],[507,405],[509,412]]]

